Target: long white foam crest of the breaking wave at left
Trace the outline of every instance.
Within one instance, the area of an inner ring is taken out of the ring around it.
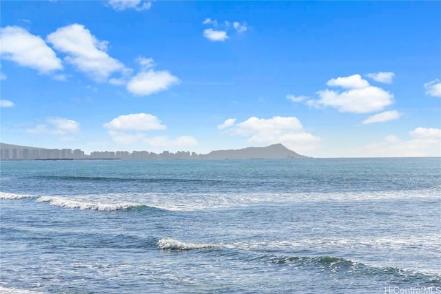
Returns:
[[[133,207],[142,206],[134,202],[119,202],[119,203],[93,203],[81,202],[71,200],[65,197],[42,196],[37,199],[37,202],[49,202],[51,205],[70,209],[96,210],[96,211],[115,211],[121,209],[130,209]]]

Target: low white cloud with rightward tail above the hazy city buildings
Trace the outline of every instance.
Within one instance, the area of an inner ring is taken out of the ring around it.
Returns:
[[[167,136],[147,136],[147,131],[167,129],[156,116],[152,114],[127,114],[114,118],[104,127],[108,129],[112,140],[119,144],[148,144],[153,147],[185,147],[197,145],[192,136],[179,136],[170,139]]]

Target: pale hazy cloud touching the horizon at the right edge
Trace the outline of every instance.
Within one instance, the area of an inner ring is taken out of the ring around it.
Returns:
[[[441,129],[417,127],[409,132],[407,140],[390,135],[379,143],[356,149],[353,155],[363,157],[441,156]]]

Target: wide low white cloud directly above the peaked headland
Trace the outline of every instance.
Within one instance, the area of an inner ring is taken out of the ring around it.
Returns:
[[[319,137],[305,132],[300,121],[294,116],[274,116],[268,119],[253,116],[241,123],[229,118],[219,125],[218,129],[223,129],[227,134],[247,136],[248,142],[282,143],[294,150],[311,150],[320,142]]]

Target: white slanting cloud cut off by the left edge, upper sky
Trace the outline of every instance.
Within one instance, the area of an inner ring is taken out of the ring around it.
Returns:
[[[1,58],[33,68],[41,74],[63,69],[61,60],[45,41],[24,28],[1,28],[0,46]]]

